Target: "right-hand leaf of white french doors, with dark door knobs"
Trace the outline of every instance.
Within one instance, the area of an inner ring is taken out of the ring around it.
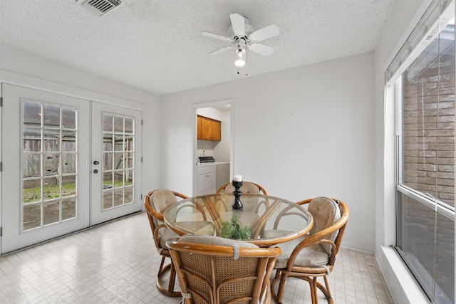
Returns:
[[[91,224],[141,209],[141,113],[92,105]]]

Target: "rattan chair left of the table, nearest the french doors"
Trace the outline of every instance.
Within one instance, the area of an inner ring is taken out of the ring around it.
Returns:
[[[171,258],[170,251],[166,247],[166,241],[170,239],[179,239],[180,235],[176,234],[171,229],[167,228],[163,223],[163,213],[168,206],[177,202],[179,199],[187,199],[187,196],[166,189],[157,189],[149,192],[144,196],[144,205],[149,219],[150,229],[155,242],[155,247],[158,253],[162,256],[160,268],[158,268],[156,285],[157,289],[167,296],[179,297],[180,291],[175,290],[175,268],[172,262],[165,265],[165,259]],[[170,273],[169,283],[167,286],[163,284],[166,281],[165,276]]]

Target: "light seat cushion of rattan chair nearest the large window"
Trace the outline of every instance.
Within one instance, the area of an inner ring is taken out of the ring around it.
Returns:
[[[294,248],[301,243],[307,236],[281,243],[274,247],[281,248],[281,255],[276,259],[274,268],[286,268],[291,253]],[[329,261],[329,255],[320,244],[303,248],[294,261],[294,266],[321,266],[326,265]]]

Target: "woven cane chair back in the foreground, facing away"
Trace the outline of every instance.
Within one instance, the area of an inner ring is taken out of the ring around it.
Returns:
[[[269,277],[280,248],[195,235],[167,247],[184,303],[270,303]]]

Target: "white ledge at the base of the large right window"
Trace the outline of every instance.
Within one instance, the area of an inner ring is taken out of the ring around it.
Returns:
[[[375,251],[375,258],[394,303],[430,303],[394,248],[380,246]]]

